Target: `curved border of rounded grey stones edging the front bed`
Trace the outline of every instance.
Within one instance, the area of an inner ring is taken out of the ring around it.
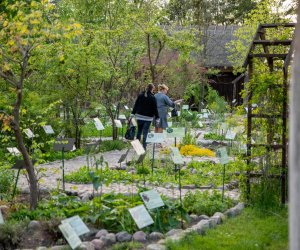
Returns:
[[[143,231],[137,231],[133,235],[128,232],[118,232],[117,234],[109,233],[106,229],[94,230],[88,233],[83,238],[93,238],[91,241],[84,241],[78,249],[81,250],[104,250],[110,249],[116,243],[122,242],[140,242],[145,245],[146,250],[166,250],[165,243],[168,241],[180,241],[187,234],[191,232],[196,232],[199,235],[204,235],[209,229],[215,228],[217,225],[224,222],[227,218],[235,217],[239,215],[245,208],[244,203],[238,203],[236,206],[226,210],[224,213],[216,212],[213,216],[208,217],[207,215],[190,215],[192,220],[192,226],[182,230],[182,229],[172,229],[165,235],[159,232],[152,232],[149,235]],[[38,222],[30,222],[30,228],[36,227]],[[33,226],[34,225],[34,226]],[[38,247],[36,250],[64,250],[69,249],[68,245],[47,247]],[[27,249],[29,250],[29,249]]]

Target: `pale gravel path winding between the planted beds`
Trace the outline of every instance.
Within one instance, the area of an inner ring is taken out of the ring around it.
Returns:
[[[172,145],[173,140],[168,140],[164,146],[170,146]],[[120,156],[124,154],[127,151],[127,149],[118,151],[109,151],[103,153],[104,161],[108,162],[109,167],[114,167],[118,164],[118,160],[120,159]],[[158,153],[158,151],[156,151]],[[152,145],[150,144],[147,150],[147,154],[152,156]],[[97,155],[97,157],[99,157]],[[130,149],[128,153],[127,160],[131,160],[133,157],[137,157],[134,150]],[[184,157],[184,160],[186,162],[190,161],[191,158]],[[214,160],[218,162],[219,160],[217,158],[201,158],[201,161],[203,160]],[[86,166],[87,165],[87,160],[86,156],[79,156],[70,160],[65,160],[65,174],[77,171],[79,168]],[[40,189],[41,190],[55,190],[58,188],[62,188],[62,170],[61,170],[62,163],[61,161],[54,161],[46,164],[41,164],[37,167],[39,168],[44,168],[45,172],[44,177],[40,180]],[[169,185],[168,188],[166,187],[157,187],[150,185],[149,183],[146,182],[146,187],[149,188],[154,188],[156,189],[159,193],[164,194],[166,196],[169,196],[171,198],[178,198],[179,197],[179,189],[178,185],[174,187],[173,185]],[[21,192],[29,192],[28,188],[28,182],[26,180],[26,177],[24,175],[20,176],[19,182],[18,182],[18,188],[21,190]],[[65,183],[65,190],[74,192],[76,191],[80,197],[83,197],[85,195],[89,195],[93,193],[93,187],[91,184],[72,184],[72,183]],[[196,189],[182,189],[182,195],[184,196],[188,191],[194,192]],[[135,184],[118,184],[118,183],[112,183],[108,187],[103,186],[102,192],[104,193],[109,193],[109,192],[116,192],[116,193],[123,193],[123,194],[131,194],[131,193],[137,193],[137,187]],[[238,199],[239,197],[239,192],[238,190],[231,190],[231,191],[226,191],[226,195]]]

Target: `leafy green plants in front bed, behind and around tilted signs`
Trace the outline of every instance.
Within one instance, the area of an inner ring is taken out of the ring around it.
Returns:
[[[165,206],[159,209],[159,214],[156,210],[150,211],[155,223],[145,230],[166,232],[178,226],[181,211],[184,218],[187,219],[185,210],[180,209],[178,202],[171,201],[166,197],[163,197],[163,200]],[[35,211],[30,211],[26,207],[20,208],[10,215],[9,220],[53,220],[53,218],[79,215],[84,221],[99,228],[102,227],[113,232],[127,231],[132,233],[137,231],[138,228],[128,209],[141,204],[143,204],[141,197],[134,194],[130,196],[113,193],[102,194],[100,197],[95,197],[92,201],[86,203],[81,202],[78,197],[58,194],[52,196],[49,200],[40,202]],[[53,220],[52,224],[55,223],[56,220]],[[55,231],[53,233],[57,234]]]

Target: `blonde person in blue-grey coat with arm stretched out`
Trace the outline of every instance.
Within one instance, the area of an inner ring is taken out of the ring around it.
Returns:
[[[165,84],[158,85],[158,93],[155,94],[157,101],[157,109],[160,117],[160,121],[155,125],[155,132],[162,133],[164,129],[168,127],[167,115],[168,107],[175,108],[176,104],[182,102],[182,99],[177,101],[172,101],[168,96],[169,88]]]

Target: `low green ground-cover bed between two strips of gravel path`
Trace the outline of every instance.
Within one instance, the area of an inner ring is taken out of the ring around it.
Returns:
[[[167,160],[164,163],[156,162],[153,175],[151,173],[151,163],[145,162],[143,170],[141,165],[133,165],[136,171],[129,172],[131,166],[127,170],[117,170],[104,167],[102,170],[92,169],[83,166],[77,171],[66,174],[65,180],[71,183],[92,183],[90,172],[93,171],[95,176],[99,176],[102,183],[109,185],[110,183],[140,183],[144,181],[153,185],[173,184],[178,185],[178,179],[175,176],[174,164]],[[239,174],[244,171],[245,163],[242,161],[229,162],[226,165],[225,183],[239,180]],[[223,166],[210,161],[191,161],[186,167],[181,169],[182,185],[195,185],[195,187],[207,186],[217,187],[222,185]]]

